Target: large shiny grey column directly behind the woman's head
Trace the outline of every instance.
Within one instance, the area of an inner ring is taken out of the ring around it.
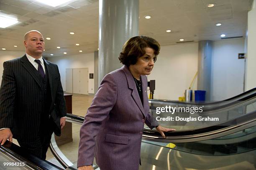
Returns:
[[[139,0],[99,1],[99,79],[119,69],[123,44],[138,36]]]

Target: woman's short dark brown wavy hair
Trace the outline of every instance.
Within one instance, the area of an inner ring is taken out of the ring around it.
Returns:
[[[144,48],[149,47],[154,50],[154,62],[156,62],[157,55],[160,51],[160,44],[154,39],[146,36],[136,36],[130,38],[123,45],[123,50],[118,59],[120,63],[130,66],[137,63],[139,57],[145,55]]]

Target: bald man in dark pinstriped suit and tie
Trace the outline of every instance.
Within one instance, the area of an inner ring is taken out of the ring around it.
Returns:
[[[58,66],[42,58],[44,38],[37,30],[24,36],[26,54],[3,63],[0,88],[0,143],[18,140],[21,147],[46,158],[51,134],[61,134],[66,104]]]

